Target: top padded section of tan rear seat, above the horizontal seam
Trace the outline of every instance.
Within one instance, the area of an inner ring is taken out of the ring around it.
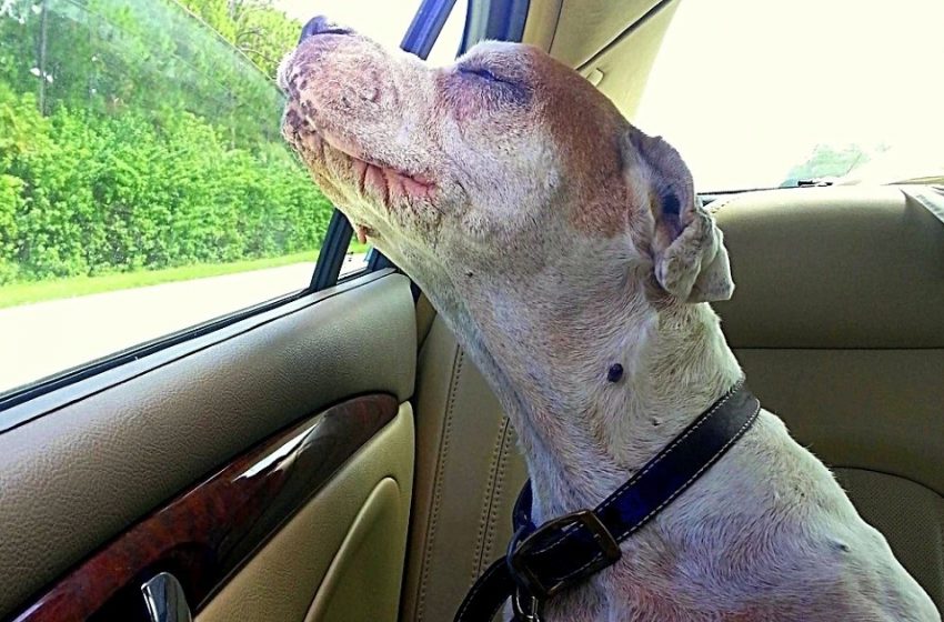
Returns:
[[[734,348],[944,348],[944,222],[894,187],[750,192],[711,204]]]

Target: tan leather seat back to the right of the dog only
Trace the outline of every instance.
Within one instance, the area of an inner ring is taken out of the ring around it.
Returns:
[[[895,188],[715,205],[751,388],[944,605],[944,223]]]

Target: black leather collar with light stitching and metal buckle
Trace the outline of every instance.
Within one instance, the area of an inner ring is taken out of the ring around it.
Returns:
[[[536,622],[544,601],[615,563],[623,542],[682,494],[756,420],[761,403],[737,382],[593,510],[535,526],[531,482],[514,509],[508,554],[466,594],[455,622],[488,622],[510,598],[516,620]]]

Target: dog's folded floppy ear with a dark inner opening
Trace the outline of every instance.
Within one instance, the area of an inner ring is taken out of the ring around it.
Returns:
[[[679,152],[662,138],[635,128],[623,150],[627,183],[642,184],[636,194],[652,210],[655,280],[685,302],[731,298],[734,281],[723,235],[695,194],[692,173]]]

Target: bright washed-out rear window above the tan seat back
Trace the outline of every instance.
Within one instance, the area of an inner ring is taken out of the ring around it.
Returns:
[[[681,2],[635,123],[701,191],[944,175],[940,0]]]

